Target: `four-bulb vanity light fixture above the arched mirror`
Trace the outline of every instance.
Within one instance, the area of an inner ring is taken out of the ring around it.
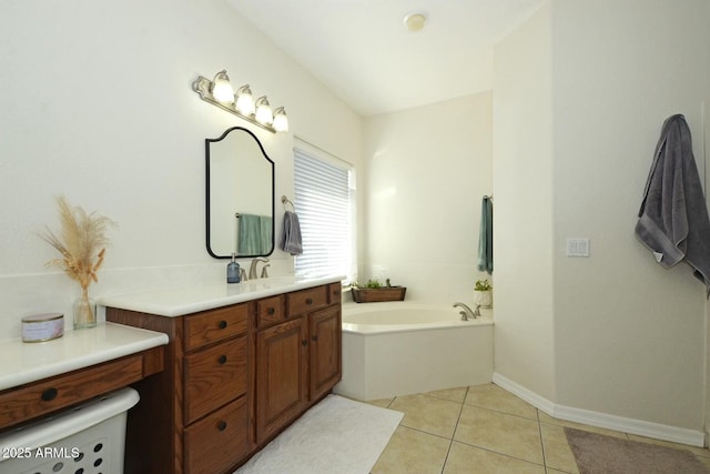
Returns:
[[[205,102],[226,110],[253,124],[268,130],[272,133],[287,132],[288,118],[283,107],[272,112],[266,95],[254,101],[250,85],[242,85],[234,93],[226,71],[220,71],[214,80],[209,80],[202,75],[192,83],[194,90]]]

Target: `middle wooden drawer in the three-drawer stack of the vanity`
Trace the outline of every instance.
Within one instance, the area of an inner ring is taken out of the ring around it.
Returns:
[[[185,357],[185,425],[246,393],[246,337]]]

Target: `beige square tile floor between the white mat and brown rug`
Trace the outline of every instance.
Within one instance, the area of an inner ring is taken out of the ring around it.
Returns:
[[[404,418],[372,474],[578,473],[564,426],[687,448],[710,468],[710,451],[552,418],[495,384],[368,402]]]

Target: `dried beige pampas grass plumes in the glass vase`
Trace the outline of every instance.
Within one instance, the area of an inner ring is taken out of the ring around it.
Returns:
[[[88,214],[80,206],[70,206],[64,196],[57,198],[57,205],[60,234],[57,235],[47,226],[39,235],[57,249],[62,258],[50,260],[47,266],[61,268],[87,291],[92,281],[99,281],[97,271],[101,268],[105,249],[110,244],[106,230],[116,224],[104,215],[95,212]]]

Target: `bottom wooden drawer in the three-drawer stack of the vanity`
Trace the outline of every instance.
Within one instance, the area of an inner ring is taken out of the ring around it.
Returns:
[[[248,451],[248,412],[242,396],[185,428],[185,473],[221,473]]]

